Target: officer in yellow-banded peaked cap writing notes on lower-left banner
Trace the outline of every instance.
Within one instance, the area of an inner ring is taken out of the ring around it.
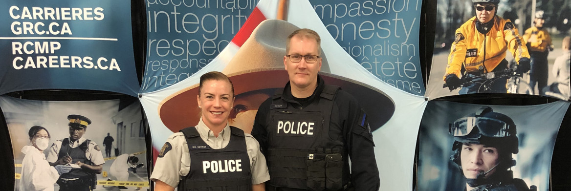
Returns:
[[[93,190],[97,184],[96,174],[101,173],[105,161],[99,146],[83,137],[91,120],[81,115],[69,115],[67,119],[70,137],[51,145],[47,161],[52,166],[70,164],[74,167],[59,177],[59,190]]]

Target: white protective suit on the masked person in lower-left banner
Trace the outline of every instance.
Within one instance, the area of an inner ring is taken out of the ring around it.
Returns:
[[[46,155],[34,146],[28,145],[22,148],[22,153],[26,156],[22,161],[19,190],[54,190],[59,173],[47,162]]]

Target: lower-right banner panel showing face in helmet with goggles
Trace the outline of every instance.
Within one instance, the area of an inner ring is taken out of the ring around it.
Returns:
[[[466,190],[471,184],[506,189],[497,187],[498,181],[549,190],[553,147],[568,108],[566,101],[528,106],[431,101],[420,126],[418,190]]]

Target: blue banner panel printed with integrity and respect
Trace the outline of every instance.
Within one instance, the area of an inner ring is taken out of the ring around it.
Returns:
[[[140,92],[178,83],[210,63],[259,0],[146,0],[147,59]]]

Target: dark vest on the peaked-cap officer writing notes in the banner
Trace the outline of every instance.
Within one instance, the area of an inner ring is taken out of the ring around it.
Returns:
[[[81,162],[88,164],[88,165],[94,165],[93,162],[91,162],[91,160],[87,159],[87,156],[85,155],[85,153],[87,152],[87,149],[89,147],[89,143],[91,143],[91,140],[86,139],[78,147],[71,148],[69,138],[63,139],[62,146],[61,146],[61,148],[59,148],[58,159],[62,159],[62,157],[69,154],[69,156],[72,159],[71,163],[75,164],[75,162],[81,161]],[[72,168],[70,172],[64,173],[59,177],[71,179],[71,178],[79,178],[79,177],[94,176],[94,175],[95,174],[87,173],[82,169]]]

